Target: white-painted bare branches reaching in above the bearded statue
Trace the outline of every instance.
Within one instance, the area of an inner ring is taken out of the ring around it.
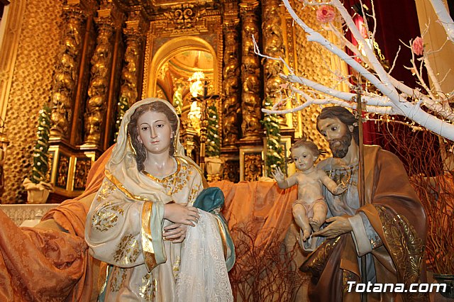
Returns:
[[[436,7],[436,1],[431,0],[434,8]],[[348,55],[345,51],[341,50],[339,47],[328,41],[321,33],[310,28],[304,23],[304,21],[299,18],[297,13],[292,9],[292,6],[289,4],[289,0],[283,0],[284,6],[289,11],[290,15],[294,19],[294,22],[297,23],[303,30],[307,33],[307,40],[319,43],[322,47],[325,47],[326,50],[332,52],[334,55],[338,56],[345,63],[350,65],[353,69],[369,81],[373,86],[375,86],[382,95],[372,93],[370,91],[363,91],[362,101],[364,102],[364,110],[370,113],[379,113],[385,115],[401,115],[406,116],[414,123],[418,123],[424,128],[437,133],[444,138],[449,140],[454,140],[454,113],[448,104],[448,98],[443,95],[441,91],[440,82],[437,81],[433,69],[431,69],[430,64],[427,60],[427,53],[423,53],[423,56],[416,60],[414,53],[412,52],[411,67],[412,71],[416,74],[416,78],[419,83],[425,90],[423,94],[421,89],[413,89],[406,84],[400,82],[391,76],[380,63],[380,59],[375,55],[373,47],[367,43],[366,38],[372,38],[375,35],[376,25],[374,24],[373,33],[367,33],[367,37],[363,37],[360,30],[355,26],[352,16],[348,13],[347,9],[343,6],[340,0],[330,0],[322,2],[309,2],[305,1],[308,5],[320,6],[322,4],[329,4],[333,6],[340,13],[341,17],[345,21],[345,26],[352,33],[355,40],[358,41],[359,47],[356,47],[348,40],[345,39],[343,33],[338,30],[338,28],[328,24],[328,26],[323,26],[323,28],[331,30],[343,43],[346,45],[352,52],[354,56]],[[444,6],[443,6],[443,9]],[[375,19],[375,8],[372,4],[372,18],[374,22]],[[363,11],[363,14],[365,11]],[[441,15],[438,14],[440,17]],[[442,15],[443,16],[443,15]],[[440,18],[442,21],[442,18]],[[442,21],[445,22],[445,21]],[[451,23],[446,23],[452,25]],[[448,29],[447,29],[448,33]],[[411,50],[411,45],[406,45]],[[426,50],[425,50],[426,51]],[[258,49],[256,53],[260,55]],[[356,60],[359,58],[362,62]],[[282,60],[282,58],[275,59]],[[416,65],[416,62],[419,61],[419,66]],[[361,64],[362,63],[362,64]],[[366,65],[367,64],[367,65]],[[395,60],[393,62],[393,67],[395,65]],[[364,66],[366,65],[366,67]],[[428,85],[424,82],[422,77],[422,68],[426,68],[431,81],[433,82],[434,89],[431,90]],[[355,94],[339,91],[337,89],[330,88],[323,84],[311,81],[306,77],[298,77],[295,74],[281,75],[283,79],[286,79],[287,82],[293,83],[289,85],[289,89],[292,94],[299,94],[303,99],[304,103],[296,106],[294,108],[289,108],[285,110],[265,110],[262,109],[265,113],[292,113],[299,111],[303,108],[306,108],[311,105],[323,105],[323,104],[338,104],[340,106],[345,106],[348,108],[356,108],[355,101],[353,97]],[[307,89],[300,89],[299,86],[306,86]],[[424,111],[421,106],[424,106],[434,115]],[[276,108],[278,106],[274,106]]]

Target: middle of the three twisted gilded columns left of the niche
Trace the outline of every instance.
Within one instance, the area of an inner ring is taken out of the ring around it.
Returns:
[[[101,128],[106,118],[109,88],[111,84],[112,62],[116,55],[114,33],[121,26],[122,14],[111,0],[103,1],[94,18],[98,26],[96,48],[92,56],[92,70],[84,116],[84,145],[101,145]]]

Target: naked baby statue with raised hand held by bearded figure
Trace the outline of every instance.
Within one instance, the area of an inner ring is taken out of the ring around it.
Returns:
[[[272,176],[275,177],[280,189],[287,189],[295,184],[298,185],[298,199],[293,203],[292,212],[295,221],[302,231],[302,240],[305,242],[314,232],[319,231],[326,220],[328,206],[323,198],[323,187],[338,195],[345,191],[346,186],[336,184],[325,172],[314,166],[319,155],[325,153],[311,142],[302,138],[290,148],[291,161],[295,163],[298,172],[290,177],[285,177],[278,167]]]

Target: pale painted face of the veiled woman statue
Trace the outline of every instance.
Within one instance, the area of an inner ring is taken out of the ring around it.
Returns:
[[[137,122],[138,140],[143,144],[149,155],[169,154],[172,144],[172,128],[164,113],[146,111]]]

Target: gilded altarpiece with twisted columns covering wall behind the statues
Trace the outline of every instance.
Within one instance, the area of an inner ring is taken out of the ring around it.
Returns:
[[[182,50],[207,52],[215,62],[210,89],[221,95],[216,105],[221,113],[221,156],[226,159],[223,175],[231,181],[240,180],[241,170],[243,179],[262,176],[260,108],[265,96],[277,91],[277,72],[286,72],[253,53],[250,33],[257,34],[263,53],[283,55],[296,74],[335,85],[329,69],[342,69],[341,63],[308,42],[277,1],[175,3],[138,1],[136,13],[126,1],[105,0],[100,7],[91,0],[70,1],[75,9],[66,1],[11,3],[14,18],[6,31],[11,39],[4,44],[9,52],[0,55],[2,114],[12,142],[2,203],[23,202],[21,183],[31,171],[36,118],[43,104],[52,102],[55,121],[48,177],[61,196],[77,196],[93,160],[111,144],[118,99],[126,96],[132,104],[140,97],[157,96],[157,70]],[[319,28],[313,9],[304,9],[299,1],[292,5],[309,26]],[[285,143],[306,135],[327,147],[315,128],[318,112],[311,106],[287,117],[282,129],[295,133]],[[187,151],[196,157],[196,133],[187,129],[184,135]]]

